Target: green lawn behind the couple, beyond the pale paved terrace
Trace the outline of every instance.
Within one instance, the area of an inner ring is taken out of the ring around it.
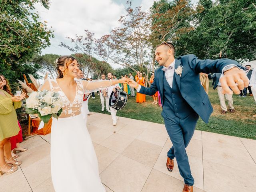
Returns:
[[[256,118],[252,115],[256,114],[256,104],[252,96],[246,98],[233,95],[233,106],[235,113],[220,114],[220,100],[217,90],[210,87],[209,98],[214,108],[209,123],[204,123],[200,118],[198,120],[196,130],[214,132],[219,134],[238,136],[242,138],[250,138],[256,140]],[[117,115],[137,120],[144,120],[164,124],[161,116],[162,108],[158,105],[151,104],[153,99],[146,96],[146,102],[143,104],[136,103],[136,97],[129,98],[126,106],[122,110],[118,110]],[[226,102],[226,104],[228,104]],[[89,110],[92,112],[110,114],[101,111],[100,96],[89,100]]]

